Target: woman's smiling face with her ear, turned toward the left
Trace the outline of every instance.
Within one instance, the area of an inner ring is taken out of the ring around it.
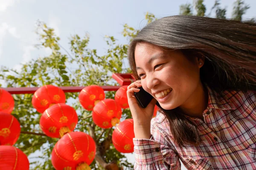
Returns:
[[[200,84],[201,59],[188,60],[180,50],[167,50],[150,43],[137,43],[134,55],[143,89],[163,109],[187,104]]]

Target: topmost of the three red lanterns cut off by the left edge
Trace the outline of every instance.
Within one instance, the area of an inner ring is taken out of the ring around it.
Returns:
[[[14,99],[6,90],[0,88],[0,112],[11,114],[14,108]]]

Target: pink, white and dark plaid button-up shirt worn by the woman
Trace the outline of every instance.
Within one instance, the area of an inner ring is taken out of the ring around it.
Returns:
[[[134,138],[135,170],[256,170],[256,92],[208,88],[204,121],[189,118],[201,136],[199,147],[174,143],[169,121],[158,114],[151,121],[151,139]]]

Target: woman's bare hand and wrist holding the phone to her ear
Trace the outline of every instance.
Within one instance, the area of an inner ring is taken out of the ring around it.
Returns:
[[[140,80],[137,80],[128,86],[128,104],[134,120],[135,138],[150,138],[150,123],[153,117],[154,107],[157,101],[153,98],[146,108],[140,107],[136,98],[134,97],[134,92],[139,92],[140,89],[137,89],[137,87],[140,86],[142,86]]]

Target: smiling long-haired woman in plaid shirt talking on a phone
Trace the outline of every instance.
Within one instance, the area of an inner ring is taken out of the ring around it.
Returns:
[[[164,17],[134,37],[128,60],[135,170],[256,169],[255,23]],[[154,97],[145,109],[140,86]]]

